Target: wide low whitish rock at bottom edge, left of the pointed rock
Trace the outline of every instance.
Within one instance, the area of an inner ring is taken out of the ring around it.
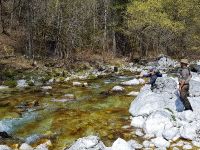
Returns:
[[[68,150],[99,150],[105,149],[105,145],[97,136],[88,136],[78,139]]]

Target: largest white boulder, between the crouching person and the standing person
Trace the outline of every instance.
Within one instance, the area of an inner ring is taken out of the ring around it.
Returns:
[[[184,110],[177,94],[177,83],[173,78],[158,78],[156,85],[157,88],[153,92],[147,86],[141,89],[129,108],[132,116],[150,115],[166,108],[172,112]]]

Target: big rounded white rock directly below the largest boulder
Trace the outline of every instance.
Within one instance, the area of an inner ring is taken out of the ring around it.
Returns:
[[[171,124],[171,116],[165,111],[156,111],[152,113],[144,124],[144,131],[147,134],[162,136],[167,124]]]

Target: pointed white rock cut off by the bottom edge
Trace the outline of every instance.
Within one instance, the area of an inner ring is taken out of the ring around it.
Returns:
[[[131,146],[123,139],[118,138],[112,145],[112,150],[132,150]]]

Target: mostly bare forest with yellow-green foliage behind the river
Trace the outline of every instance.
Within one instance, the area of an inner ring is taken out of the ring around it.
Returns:
[[[199,0],[1,0],[0,8],[1,33],[29,58],[199,52]]]

